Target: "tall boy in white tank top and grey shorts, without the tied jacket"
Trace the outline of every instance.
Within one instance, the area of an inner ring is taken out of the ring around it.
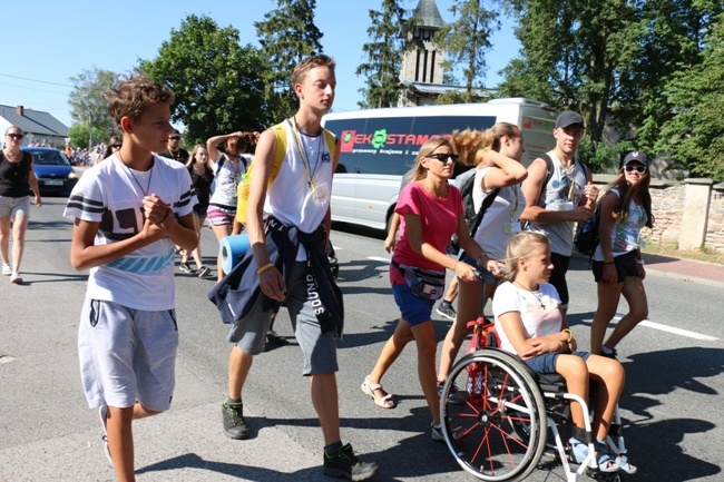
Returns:
[[[324,55],[306,58],[295,67],[292,86],[300,99],[300,108],[292,119],[285,121],[287,147],[284,164],[270,185],[277,142],[272,129],[265,130],[256,146],[246,229],[258,267],[261,296],[286,302],[296,340],[304,354],[303,374],[310,376],[312,404],[324,436],[324,473],[362,481],[374,475],[378,465],[362,462],[354,455],[350,444],[342,444],[335,333],[323,328],[315,316],[317,305],[314,302],[317,299],[312,296],[315,293],[307,292],[306,281],[312,274],[306,268],[303,249],[297,253],[293,266],[284,266],[283,275],[270,257],[264,225],[265,216],[270,216],[275,224],[299,229],[300,233],[315,233],[323,226],[329,239],[330,194],[339,149],[332,150],[327,146],[321,121],[334,101],[334,60]],[[331,155],[332,151],[335,153],[334,156]],[[248,437],[243,416],[242,388],[254,355],[264,347],[271,312],[265,311],[263,305],[265,303],[255,303],[250,315],[243,323],[235,324],[229,335],[229,340],[236,344],[229,356],[228,396],[222,406],[222,414],[224,431],[232,439]]]

